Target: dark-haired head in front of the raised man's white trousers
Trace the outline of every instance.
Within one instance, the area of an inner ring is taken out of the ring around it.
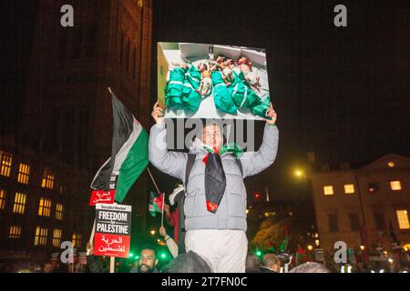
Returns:
[[[166,273],[213,273],[210,264],[195,252],[189,251],[174,258]]]

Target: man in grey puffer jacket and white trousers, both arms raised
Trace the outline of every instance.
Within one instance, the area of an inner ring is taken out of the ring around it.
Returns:
[[[156,125],[149,135],[149,161],[184,182],[186,250],[208,259],[217,273],[245,272],[248,240],[243,178],[271,166],[278,149],[277,115],[272,104],[266,115],[271,119],[266,120],[259,151],[241,155],[222,145],[219,125],[205,125],[201,138],[190,146],[195,159],[188,176],[189,155],[168,151],[163,110],[157,103],[152,111]]]

